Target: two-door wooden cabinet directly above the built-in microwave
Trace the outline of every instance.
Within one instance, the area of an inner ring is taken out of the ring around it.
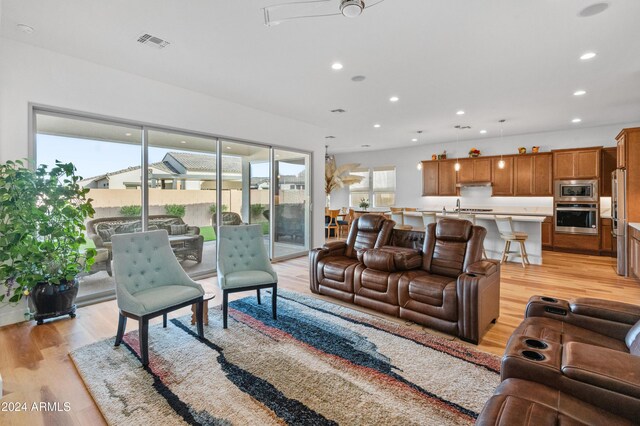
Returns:
[[[553,151],[554,179],[597,179],[600,177],[602,147]]]

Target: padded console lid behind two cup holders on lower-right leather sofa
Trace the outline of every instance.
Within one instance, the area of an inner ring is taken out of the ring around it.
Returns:
[[[640,357],[580,342],[562,352],[562,374],[612,392],[640,398]]]

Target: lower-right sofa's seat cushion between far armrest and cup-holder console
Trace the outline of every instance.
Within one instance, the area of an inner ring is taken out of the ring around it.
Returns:
[[[595,346],[628,352],[624,341],[563,321],[544,317],[529,317],[516,328],[513,336],[535,337],[537,339],[566,344],[568,342],[588,343]]]

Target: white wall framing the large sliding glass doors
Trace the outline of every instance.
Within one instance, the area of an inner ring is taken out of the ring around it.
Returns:
[[[0,161],[29,154],[29,103],[314,151],[312,245],[324,241],[325,131],[298,121],[0,38]],[[137,158],[135,159],[137,160]],[[0,325],[22,309],[0,307]]]

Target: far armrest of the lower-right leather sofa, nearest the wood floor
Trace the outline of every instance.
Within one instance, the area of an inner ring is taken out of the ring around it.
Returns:
[[[637,312],[638,314],[634,314]],[[624,340],[637,321],[640,309],[627,303],[578,298],[572,301],[547,296],[532,296],[525,318],[546,317]]]

